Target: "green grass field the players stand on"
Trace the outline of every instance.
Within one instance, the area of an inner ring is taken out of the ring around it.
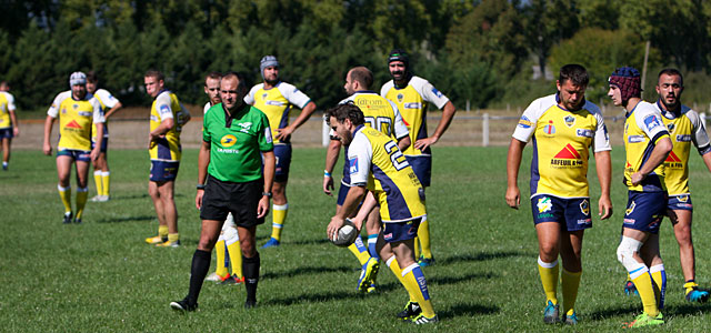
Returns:
[[[437,264],[424,270],[441,322],[418,331],[543,331],[544,296],[538,246],[523,200],[509,209],[504,148],[434,150],[433,186],[428,190]],[[694,153],[692,153],[694,154]],[[322,149],[296,149],[289,184],[290,212],[282,246],[260,250],[259,307],[246,311],[242,286],[206,283],[200,311],[180,315],[168,306],[188,291],[190,260],[200,229],[194,209],[197,150],[183,153],[176,200],[183,246],[156,249],[143,239],[157,230],[147,193],[148,153],[110,152],[112,200],[88,203],[82,225],[62,225],[54,159],[39,151],[13,152],[0,172],[0,331],[18,332],[405,332],[414,327],[394,314],[407,294],[382,268],[379,290],[357,294],[359,264],[326,241],[336,199],[323,195]],[[528,193],[530,149],[524,151],[521,191]],[[594,220],[583,249],[577,311],[581,324],[567,331],[618,331],[641,311],[639,297],[622,293],[625,272],[615,249],[627,200],[621,183],[623,150],[613,151],[610,221]],[[590,167],[593,203],[598,199]],[[698,282],[711,281],[711,174],[692,157]],[[93,196],[93,182],[90,196]],[[528,198],[527,194],[524,194]],[[592,205],[597,214],[597,204]],[[269,238],[271,219],[258,230]],[[668,220],[662,226],[668,272],[668,323],[659,330],[709,332],[709,304],[683,300],[683,276]],[[210,270],[214,269],[214,262]],[[559,295],[560,296],[560,295]]]

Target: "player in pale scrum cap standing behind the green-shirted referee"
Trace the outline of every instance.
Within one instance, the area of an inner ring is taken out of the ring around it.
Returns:
[[[281,231],[287,221],[289,202],[287,200],[287,182],[291,164],[291,134],[311,117],[316,103],[293,84],[279,79],[279,61],[274,56],[264,56],[259,64],[264,79],[244,97],[248,104],[254,105],[267,114],[274,139],[277,157],[277,178],[274,180],[274,203],[272,206],[271,238],[262,248],[279,246]],[[301,109],[299,117],[290,124],[289,111],[292,107]]]

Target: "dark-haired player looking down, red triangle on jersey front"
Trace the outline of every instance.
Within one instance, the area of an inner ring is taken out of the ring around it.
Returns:
[[[574,305],[582,275],[582,239],[592,228],[588,160],[594,153],[600,180],[599,215],[612,215],[610,139],[600,109],[585,100],[590,78],[579,64],[560,69],[558,93],[534,100],[523,111],[507,158],[507,204],[518,209],[521,154],[533,140],[531,210],[538,235],[538,270],[545,292],[543,322],[561,321],[558,302],[558,256],[563,261],[563,321],[577,324]]]

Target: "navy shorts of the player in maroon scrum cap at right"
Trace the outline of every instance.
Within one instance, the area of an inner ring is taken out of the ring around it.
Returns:
[[[667,214],[667,192],[629,191],[623,228],[659,233],[659,225]]]

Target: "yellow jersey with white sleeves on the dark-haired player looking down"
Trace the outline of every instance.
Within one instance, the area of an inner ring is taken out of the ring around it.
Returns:
[[[569,111],[558,94],[537,99],[523,111],[513,139],[533,139],[531,198],[589,198],[588,160],[593,152],[609,151],[610,138],[600,109],[585,101]]]

